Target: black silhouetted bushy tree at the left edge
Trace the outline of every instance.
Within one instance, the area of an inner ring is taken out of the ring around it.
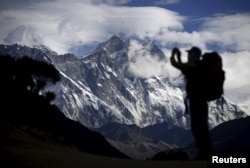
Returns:
[[[46,62],[24,56],[0,55],[0,96],[5,113],[31,112],[44,108],[55,98],[43,89],[60,80],[58,70]],[[31,108],[32,107],[32,108]],[[1,110],[2,111],[2,110]]]

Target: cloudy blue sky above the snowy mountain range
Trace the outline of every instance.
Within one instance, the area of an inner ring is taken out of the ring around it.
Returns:
[[[115,33],[155,41],[167,56],[173,46],[216,49],[226,92],[250,95],[249,0],[0,0],[0,25],[0,43],[44,44],[59,54]]]

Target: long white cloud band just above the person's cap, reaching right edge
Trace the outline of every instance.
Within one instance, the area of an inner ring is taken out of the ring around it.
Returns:
[[[154,40],[162,45],[178,47],[199,46],[204,50],[216,49],[223,51],[244,51],[250,46],[250,13],[236,13],[231,15],[214,15],[195,20],[200,27],[192,32],[184,29],[161,29]],[[186,18],[184,22],[192,22]],[[211,47],[213,46],[213,47]]]

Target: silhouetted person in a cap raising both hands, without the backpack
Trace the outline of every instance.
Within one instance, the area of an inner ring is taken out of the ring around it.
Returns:
[[[172,50],[170,57],[171,64],[179,69],[186,78],[186,93],[188,97],[191,116],[191,128],[195,138],[195,143],[199,149],[197,159],[207,159],[212,152],[211,139],[208,128],[208,104],[205,98],[201,95],[199,84],[195,75],[200,65],[201,50],[198,47],[192,47],[187,51],[188,61],[183,63],[181,60],[181,52],[178,48]],[[177,56],[177,60],[175,58]]]

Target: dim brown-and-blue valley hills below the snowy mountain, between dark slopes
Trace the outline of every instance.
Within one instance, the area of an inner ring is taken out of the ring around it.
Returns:
[[[114,147],[133,159],[145,160],[165,150],[170,151],[167,158],[172,160],[173,158],[181,157],[179,156],[180,152],[178,152],[178,156],[174,156],[173,154],[176,151],[171,151],[182,146],[179,145],[180,141],[185,140],[187,145],[193,141],[190,131],[177,126],[167,128],[167,123],[154,124],[144,128],[140,128],[137,125],[109,123],[93,130],[100,132]],[[165,152],[154,158],[162,160],[161,156],[163,154]],[[185,160],[185,156],[183,155],[183,158],[180,159]]]

